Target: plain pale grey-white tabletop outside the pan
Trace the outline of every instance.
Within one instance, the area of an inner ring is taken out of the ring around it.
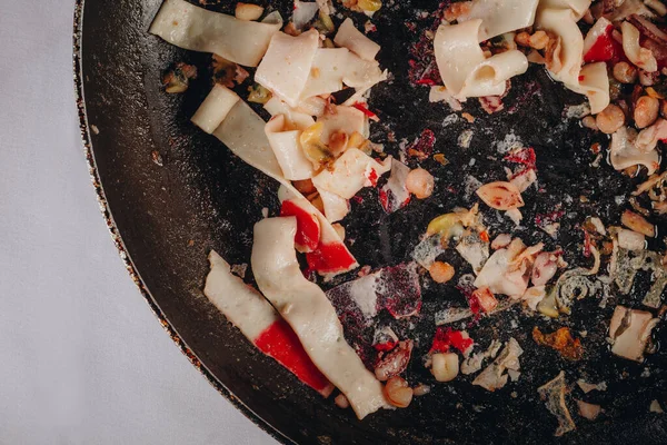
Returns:
[[[273,444],[171,343],[79,138],[73,0],[0,0],[0,444]]]

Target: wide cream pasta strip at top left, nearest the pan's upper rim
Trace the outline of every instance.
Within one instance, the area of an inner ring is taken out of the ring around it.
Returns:
[[[235,63],[257,67],[281,27],[278,13],[263,22],[246,21],[185,0],[165,0],[149,31],[179,48],[212,52]]]

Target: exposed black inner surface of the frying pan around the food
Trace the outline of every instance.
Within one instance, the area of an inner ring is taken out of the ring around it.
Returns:
[[[278,185],[190,123],[211,87],[210,55],[180,50],[147,32],[160,3],[87,0],[78,4],[74,68],[81,128],[94,186],[129,271],[177,344],[239,409],[285,443],[665,443],[665,417],[648,412],[650,400],[666,399],[665,349],[639,365],[615,358],[605,343],[614,306],[621,301],[638,306],[641,289],[629,297],[613,296],[606,309],[598,307],[595,297],[577,301],[573,315],[558,322],[522,315],[519,308],[484,319],[470,329],[484,347],[491,338],[512,336],[524,347],[517,383],[495,393],[472,386],[468,377],[436,384],[408,409],[380,412],[362,422],[258,353],[208,303],[201,288],[210,249],[231,264],[249,263],[252,225],[262,218],[263,208],[276,215]],[[230,1],[211,3],[216,4],[207,8],[217,11],[233,7]],[[290,3],[265,6],[288,17]],[[439,178],[436,194],[392,215],[381,210],[377,190],[365,190],[345,221],[348,239],[355,239],[352,254],[361,265],[374,268],[409,260],[432,217],[474,202],[464,186],[469,176],[482,182],[502,178],[498,147],[506,135],[537,152],[544,191],[526,197],[527,217],[560,206],[565,217],[557,244],[568,253],[579,251],[577,224],[588,215],[618,224],[615,197],[631,189],[630,180],[605,162],[597,169],[590,166],[595,155],[589,147],[599,136],[581,129],[576,119],[563,119],[564,107],[583,99],[555,85],[539,67],[514,82],[504,100],[507,112],[489,116],[474,102],[466,107],[477,118],[474,123],[446,120],[451,111],[441,103],[428,103],[428,88],[407,80],[409,49],[432,26],[437,8],[436,1],[397,1],[375,20],[374,39],[382,46],[379,59],[394,78],[374,89],[370,107],[378,110],[381,123],[374,126],[372,139],[396,155],[401,140],[412,141],[428,128],[436,136],[436,151],[450,164],[425,161]],[[355,19],[358,26],[365,22],[361,17]],[[161,75],[178,61],[197,66],[199,77],[186,93],[167,95]],[[395,138],[388,139],[389,129]],[[464,149],[459,138],[466,130],[472,136],[470,147]],[[580,196],[588,200],[581,202]],[[511,229],[492,214],[490,218],[495,234]],[[518,235],[526,241],[556,245],[530,227]],[[589,264],[568,255],[570,264]],[[456,258],[450,260],[464,267]],[[407,373],[411,383],[432,383],[420,357],[430,346],[434,314],[464,305],[465,298],[454,287],[424,289],[421,317],[402,332],[419,345]],[[586,330],[585,359],[568,363],[535,345],[530,337],[535,325],[547,332],[561,325],[574,333]],[[664,339],[664,333],[658,330],[656,342]],[[555,438],[557,422],[539,399],[537,387],[560,369],[573,388],[568,403],[585,398],[601,404],[605,413],[588,422],[570,405],[577,429]],[[577,378],[605,380],[608,389],[584,396],[574,385]]]

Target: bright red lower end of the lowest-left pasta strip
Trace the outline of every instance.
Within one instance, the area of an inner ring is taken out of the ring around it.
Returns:
[[[317,392],[326,393],[330,383],[315,366],[306,349],[301,346],[297,334],[283,319],[279,319],[266,328],[256,339],[262,353],[293,373],[299,380]]]

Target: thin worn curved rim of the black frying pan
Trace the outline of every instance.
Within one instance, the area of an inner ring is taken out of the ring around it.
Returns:
[[[125,246],[122,236],[120,235],[116,222],[111,216],[111,209],[107,201],[102,184],[100,181],[97,162],[94,159],[94,148],[92,147],[90,137],[90,127],[88,125],[88,113],[86,109],[86,95],[83,89],[83,9],[86,0],[74,0],[74,13],[73,13],[73,32],[72,32],[72,68],[73,68],[73,87],[74,87],[74,100],[77,105],[77,115],[79,120],[79,131],[81,134],[81,142],[83,146],[83,155],[88,164],[88,172],[90,176],[91,184],[96,191],[96,197],[100,206],[100,212],[102,214],[104,221],[107,222],[107,229],[113,240],[113,245],[122,260],[126,270],[128,271],[132,281],[139,289],[139,293],[143,297],[148,307],[153,315],[160,322],[160,325],[165,332],[169,335],[175,345],[180,352],[188,358],[190,364],[208,380],[208,383],[222,395],[231,405],[239,411],[246,418],[251,421],[255,425],[261,428],[265,433],[271,436],[273,439],[281,444],[293,444],[289,437],[285,436],[278,428],[265,421],[257,413],[250,409],[242,400],[240,400],[227,386],[220,382],[206,366],[199,360],[197,355],[190,349],[186,342],[180,337],[176,328],[171,325],[171,322],[167,319],[150,290],[141,279],[135,263],[130,258],[130,255]]]

